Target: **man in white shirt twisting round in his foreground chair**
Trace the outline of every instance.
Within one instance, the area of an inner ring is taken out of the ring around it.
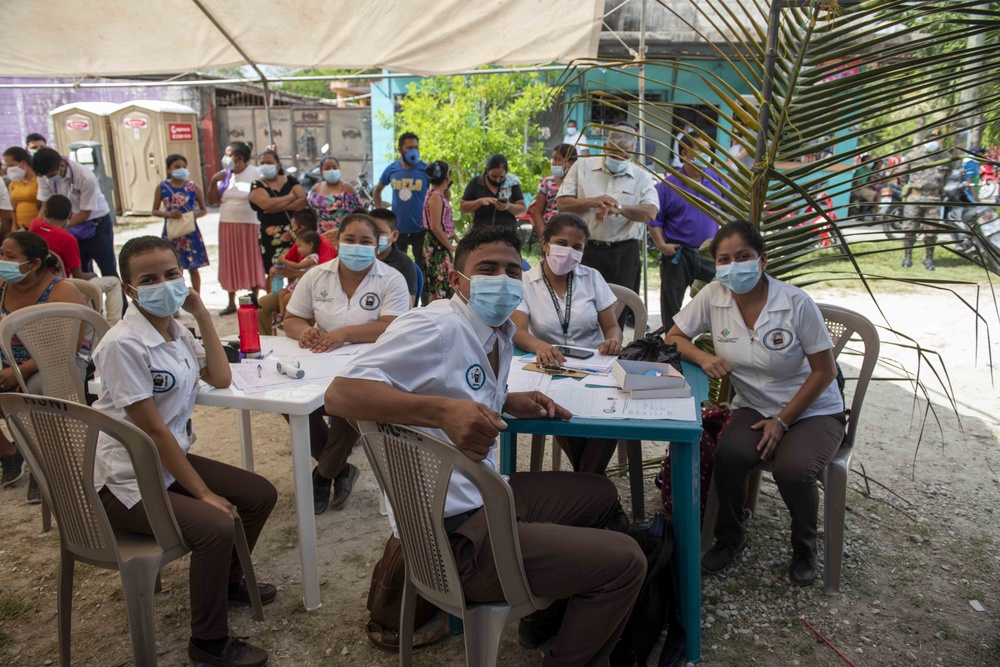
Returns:
[[[570,417],[540,392],[507,393],[509,317],[523,294],[520,245],[507,227],[466,234],[448,276],[455,296],[394,320],[331,383],[327,412],[423,428],[494,468],[496,438],[506,427],[501,413]],[[510,487],[528,581],[536,595],[559,600],[522,619],[522,646],[537,648],[557,634],[543,664],[601,664],[646,570],[632,538],[604,529],[621,512],[614,484],[588,473],[536,472],[511,475]],[[470,602],[503,599],[481,507],[476,489],[453,476],[445,528]]]

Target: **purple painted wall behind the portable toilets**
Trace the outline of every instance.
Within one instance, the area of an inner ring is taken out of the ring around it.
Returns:
[[[72,83],[71,79],[56,79]],[[45,79],[0,77],[0,83],[43,83]],[[163,100],[185,104],[201,117],[198,89],[168,86],[136,88],[0,88],[0,152],[10,146],[24,146],[25,135],[40,132],[52,140],[49,112],[74,102],[114,102]]]

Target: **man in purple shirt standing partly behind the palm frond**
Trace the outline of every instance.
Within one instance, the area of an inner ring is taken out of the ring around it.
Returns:
[[[708,143],[693,133],[681,135],[679,140],[680,171],[701,183],[706,190],[720,198],[726,183],[708,167]],[[704,202],[709,215],[689,202],[680,191]],[[676,315],[684,303],[684,292],[695,280],[706,282],[715,277],[715,264],[698,255],[698,247],[715,236],[719,229],[721,211],[707,195],[686,185],[679,177],[670,175],[656,186],[660,197],[660,212],[649,223],[653,243],[660,251],[660,312],[663,326],[670,331]]]

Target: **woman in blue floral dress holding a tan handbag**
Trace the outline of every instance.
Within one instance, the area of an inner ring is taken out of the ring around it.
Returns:
[[[208,252],[205,250],[205,240],[198,228],[198,218],[207,213],[205,197],[201,188],[188,179],[187,158],[173,154],[167,156],[167,180],[160,183],[159,190],[153,199],[153,215],[163,217],[163,238],[168,239],[181,260],[181,269],[191,274],[191,287],[195,292],[201,291],[201,274],[203,266],[208,266]],[[162,209],[161,209],[162,207]],[[172,239],[167,236],[167,221],[177,220],[185,213],[194,213],[194,231]]]

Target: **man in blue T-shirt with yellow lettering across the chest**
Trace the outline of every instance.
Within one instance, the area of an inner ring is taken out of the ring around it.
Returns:
[[[396,214],[399,229],[396,247],[402,253],[412,247],[414,261],[426,273],[424,234],[427,232],[423,226],[423,215],[424,197],[430,183],[427,180],[427,164],[420,159],[420,139],[412,132],[399,135],[398,148],[399,160],[385,168],[372,195],[375,208],[384,208],[382,190],[387,185],[392,186],[392,212]]]

